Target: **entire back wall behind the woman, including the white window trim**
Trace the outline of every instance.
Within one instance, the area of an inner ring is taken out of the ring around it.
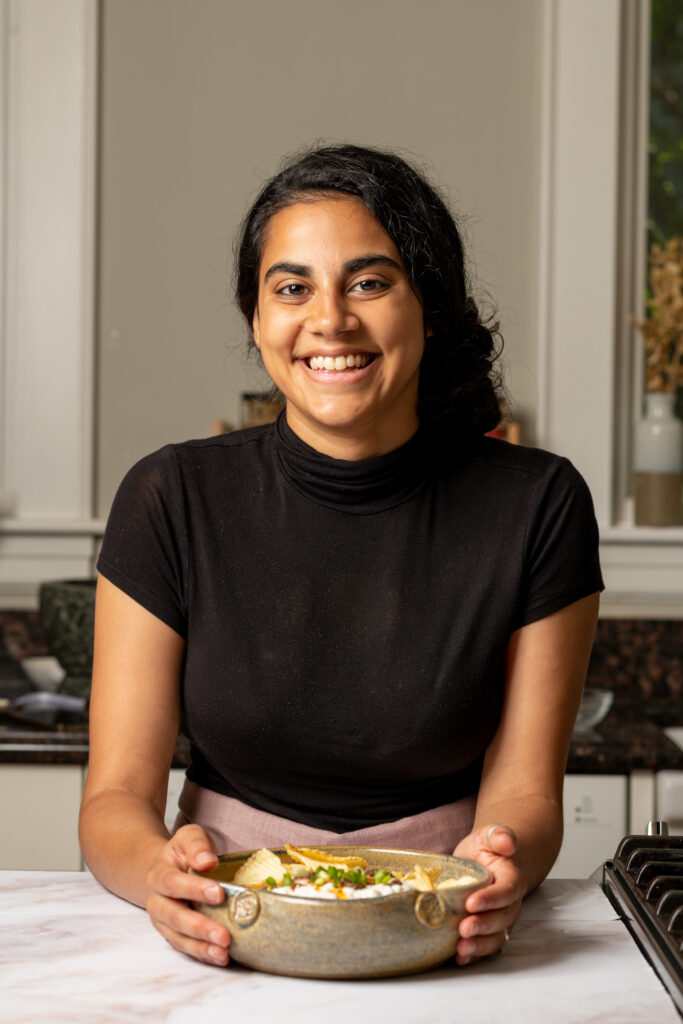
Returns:
[[[261,379],[231,237],[281,155],[325,137],[431,167],[498,301],[522,439],[591,487],[602,613],[680,617],[683,529],[634,527],[626,493],[638,19],[635,0],[0,0],[0,606],[92,573],[139,456],[238,420]]]

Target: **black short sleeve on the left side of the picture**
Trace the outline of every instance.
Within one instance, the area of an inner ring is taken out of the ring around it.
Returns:
[[[173,445],[124,477],[106,522],[97,570],[181,636],[187,633],[187,529]]]

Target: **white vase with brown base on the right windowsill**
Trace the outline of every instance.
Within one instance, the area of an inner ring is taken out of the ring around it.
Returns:
[[[639,526],[683,522],[683,422],[674,415],[675,395],[648,391],[645,416],[636,424],[634,483]]]

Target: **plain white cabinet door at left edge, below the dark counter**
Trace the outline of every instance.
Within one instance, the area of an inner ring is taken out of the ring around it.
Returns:
[[[81,765],[0,765],[0,868],[79,871]]]

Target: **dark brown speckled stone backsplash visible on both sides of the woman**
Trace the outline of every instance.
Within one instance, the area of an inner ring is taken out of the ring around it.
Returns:
[[[48,653],[37,611],[0,611],[0,678]],[[671,706],[683,718],[683,620],[601,618],[588,685],[613,690],[615,708]]]

